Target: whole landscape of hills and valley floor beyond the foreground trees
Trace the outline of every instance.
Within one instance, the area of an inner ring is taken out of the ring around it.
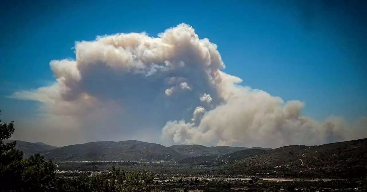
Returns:
[[[10,142],[13,140],[7,140]],[[16,141],[24,158],[40,153],[54,174],[70,180],[113,169],[148,173],[165,192],[363,191],[367,188],[367,139],[320,146],[206,147],[136,140],[65,147]]]

